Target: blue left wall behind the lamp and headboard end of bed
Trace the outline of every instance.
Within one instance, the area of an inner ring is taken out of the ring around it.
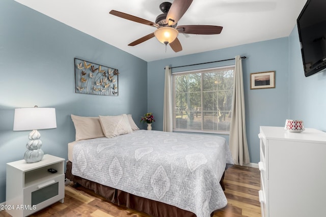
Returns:
[[[12,0],[0,1],[0,16],[1,203],[6,163],[23,159],[29,134],[13,132],[14,108],[56,108],[57,129],[40,131],[42,149],[67,159],[75,134],[70,114],[130,113],[139,123],[147,111],[147,62]],[[119,96],[75,94],[74,57],[118,69]]]

